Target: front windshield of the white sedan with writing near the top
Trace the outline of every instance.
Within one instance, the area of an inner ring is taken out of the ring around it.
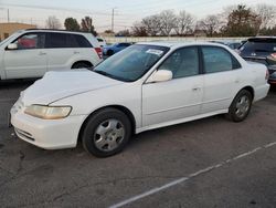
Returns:
[[[167,46],[131,45],[102,62],[94,71],[115,80],[134,82],[147,73],[168,51]]]

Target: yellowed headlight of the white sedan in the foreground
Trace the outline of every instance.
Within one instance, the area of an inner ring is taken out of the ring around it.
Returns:
[[[31,105],[25,108],[24,113],[42,119],[60,119],[67,117],[71,111],[71,106]]]

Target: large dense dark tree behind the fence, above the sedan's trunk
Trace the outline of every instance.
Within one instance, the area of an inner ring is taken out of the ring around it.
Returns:
[[[227,18],[224,34],[227,37],[256,35],[261,27],[259,17],[246,6],[237,6]]]

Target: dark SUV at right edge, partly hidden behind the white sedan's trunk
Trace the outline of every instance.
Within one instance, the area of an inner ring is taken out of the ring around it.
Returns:
[[[240,54],[247,61],[265,64],[269,71],[268,82],[276,84],[276,37],[251,38],[241,46]]]

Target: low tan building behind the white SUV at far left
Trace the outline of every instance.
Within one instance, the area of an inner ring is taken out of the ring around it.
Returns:
[[[11,35],[13,32],[18,30],[35,29],[35,28],[36,25],[34,24],[24,24],[17,22],[0,23],[0,41],[7,39],[9,35]]]

